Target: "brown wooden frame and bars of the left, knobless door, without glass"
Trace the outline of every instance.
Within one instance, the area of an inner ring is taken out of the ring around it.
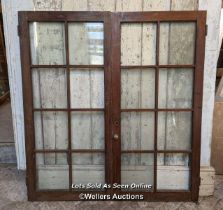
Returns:
[[[29,39],[30,22],[61,22],[65,25],[66,65],[32,65]],[[104,65],[70,65],[68,49],[68,23],[69,22],[102,22],[104,23]],[[26,182],[28,200],[78,200],[80,192],[72,191],[72,160],[73,152],[103,152],[99,150],[73,150],[71,147],[71,111],[104,111],[105,116],[105,180],[111,183],[112,145],[110,136],[110,82],[111,65],[109,61],[111,46],[111,21],[109,12],[19,12],[19,30],[21,63],[23,77],[24,120],[25,120],[25,145],[26,145]],[[104,68],[105,107],[104,109],[72,109],[70,106],[70,69],[71,68]],[[66,68],[67,72],[67,109],[34,109],[32,92],[32,68]],[[35,149],[34,112],[35,111],[66,111],[68,113],[68,149],[67,150],[37,150]],[[69,190],[68,191],[38,191],[36,187],[36,157],[37,153],[64,152],[68,156],[69,165]],[[109,193],[110,190],[107,190]],[[87,193],[87,191],[86,191]],[[96,194],[97,192],[95,192]],[[104,193],[104,192],[99,192]]]

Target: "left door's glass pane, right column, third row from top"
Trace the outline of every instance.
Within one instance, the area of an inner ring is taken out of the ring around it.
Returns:
[[[104,112],[72,112],[73,149],[104,149]]]

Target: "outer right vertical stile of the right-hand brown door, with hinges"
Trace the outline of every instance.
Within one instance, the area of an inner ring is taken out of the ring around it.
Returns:
[[[201,119],[203,96],[203,67],[205,56],[205,25],[206,12],[197,16],[196,54],[194,73],[194,101],[193,101],[193,133],[192,133],[192,161],[191,161],[191,200],[197,201],[200,185],[200,152],[201,152]],[[198,50],[199,49],[199,50]]]

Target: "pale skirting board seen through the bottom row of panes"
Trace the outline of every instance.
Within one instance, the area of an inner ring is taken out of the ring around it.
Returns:
[[[60,187],[67,189],[68,187],[68,167],[66,165],[48,165],[39,166],[39,176],[41,181],[39,186],[41,189],[49,189]],[[87,173],[91,171],[91,173]],[[129,183],[145,183],[152,184],[151,166],[124,166],[122,168],[123,184]],[[55,172],[57,176],[55,176]],[[102,165],[73,165],[74,177],[78,177],[75,184],[103,183],[104,168]],[[170,181],[166,183],[165,177],[170,177]],[[64,177],[66,179],[64,179]],[[182,190],[187,189],[189,181],[189,168],[185,166],[158,166],[159,189]],[[60,183],[58,185],[57,183]]]

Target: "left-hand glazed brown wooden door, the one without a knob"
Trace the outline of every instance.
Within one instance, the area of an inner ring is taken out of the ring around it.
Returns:
[[[29,199],[78,199],[111,179],[109,13],[19,18]]]

